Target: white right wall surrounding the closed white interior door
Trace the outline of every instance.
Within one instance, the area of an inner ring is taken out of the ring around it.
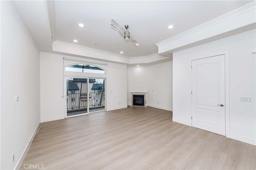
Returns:
[[[255,145],[255,30],[173,53],[173,121],[191,125],[189,73],[192,59],[229,51],[230,138]],[[241,102],[251,97],[252,102]]]

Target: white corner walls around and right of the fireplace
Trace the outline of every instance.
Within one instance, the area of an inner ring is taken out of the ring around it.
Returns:
[[[147,92],[147,105],[172,111],[172,61],[147,67],[128,67],[128,105],[130,92]]]

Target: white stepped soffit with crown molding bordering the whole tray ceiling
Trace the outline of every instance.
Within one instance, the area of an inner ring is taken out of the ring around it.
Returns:
[[[188,31],[181,34],[168,38],[162,42],[156,43],[158,46],[158,53],[147,56],[128,57],[125,55],[118,55],[116,53],[110,53],[94,48],[84,47],[81,45],[75,45],[72,43],[61,42],[55,39],[55,6],[54,1],[46,1],[47,11],[50,22],[50,30],[52,34],[52,50],[67,53],[70,55],[80,55],[87,58],[93,58],[103,61],[114,61],[116,63],[122,63],[127,65],[136,64],[150,64],[159,63],[172,60],[172,52],[175,49],[185,49],[186,46],[196,43],[203,42],[203,39],[209,39],[216,35],[222,34],[220,38],[225,37],[225,32],[235,30],[246,26],[246,24],[255,23],[255,1],[245,6],[242,6],[236,10],[228,12],[218,18],[210,20],[204,24],[196,26]],[[252,15],[253,14],[253,15]],[[230,25],[230,23],[233,23]],[[219,26],[221,24],[221,26]],[[223,26],[224,25],[224,26]],[[216,29],[216,26],[218,26]],[[228,28],[227,28],[228,26]],[[212,34],[209,34],[212,33]],[[200,36],[198,36],[200,34]],[[205,36],[202,36],[205,35]],[[237,33],[236,33],[237,34]],[[229,35],[230,36],[230,35]],[[201,37],[201,39],[200,39]],[[189,41],[188,41],[189,40]],[[178,42],[178,43],[177,43]],[[200,44],[196,44],[200,45]],[[180,48],[184,47],[184,48]]]

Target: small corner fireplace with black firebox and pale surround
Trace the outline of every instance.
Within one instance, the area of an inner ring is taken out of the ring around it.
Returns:
[[[146,93],[147,92],[131,92],[132,107],[147,107],[146,105]]]

